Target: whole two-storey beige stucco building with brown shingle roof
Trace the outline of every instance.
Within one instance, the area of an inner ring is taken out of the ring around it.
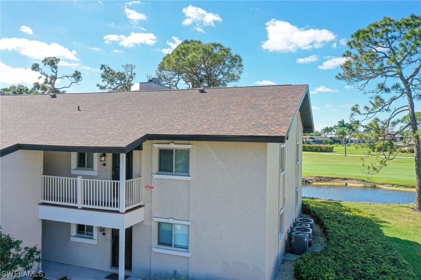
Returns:
[[[275,277],[301,216],[307,85],[0,99],[0,224],[43,260]]]

